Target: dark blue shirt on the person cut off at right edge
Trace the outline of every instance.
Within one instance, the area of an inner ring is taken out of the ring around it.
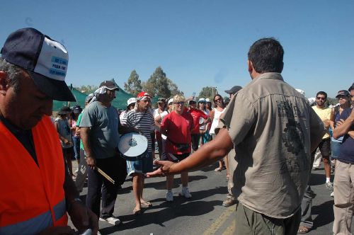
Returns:
[[[351,113],[352,109],[347,108],[341,113],[340,119],[346,120]],[[354,124],[351,125],[350,130],[354,130]],[[348,161],[354,164],[354,139],[349,136],[349,134],[344,135],[343,142],[341,144],[341,151],[339,153],[338,159]]]

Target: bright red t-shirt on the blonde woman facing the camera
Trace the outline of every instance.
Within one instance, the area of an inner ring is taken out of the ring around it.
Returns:
[[[193,128],[193,117],[188,112],[183,112],[179,115],[176,112],[171,112],[161,123],[161,133],[167,131],[166,152],[171,154],[190,153],[190,131]],[[171,141],[169,141],[171,139]],[[178,151],[176,144],[189,144],[185,151]]]

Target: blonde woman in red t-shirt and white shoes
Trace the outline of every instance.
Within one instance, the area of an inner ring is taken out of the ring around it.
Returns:
[[[167,136],[166,159],[173,162],[182,161],[190,155],[190,134],[193,130],[193,117],[185,112],[185,98],[177,95],[173,97],[172,112],[166,115],[161,123],[161,134]],[[188,172],[181,173],[182,191],[179,195],[190,198],[188,190]],[[173,176],[166,176],[166,201],[173,201],[172,193]]]

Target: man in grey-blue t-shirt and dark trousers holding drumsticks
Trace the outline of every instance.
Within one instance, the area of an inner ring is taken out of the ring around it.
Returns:
[[[113,211],[118,188],[127,176],[125,160],[118,156],[117,150],[120,120],[116,108],[111,105],[118,89],[113,81],[103,81],[96,91],[96,101],[84,109],[80,122],[80,135],[89,166],[86,207],[113,225],[120,224]],[[115,184],[103,178],[96,168],[113,178]]]

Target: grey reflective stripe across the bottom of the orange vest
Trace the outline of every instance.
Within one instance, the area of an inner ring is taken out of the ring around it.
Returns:
[[[65,200],[62,200],[53,207],[55,220],[61,219],[67,212]],[[17,224],[0,227],[0,234],[38,234],[40,231],[53,226],[52,214],[50,210]]]

